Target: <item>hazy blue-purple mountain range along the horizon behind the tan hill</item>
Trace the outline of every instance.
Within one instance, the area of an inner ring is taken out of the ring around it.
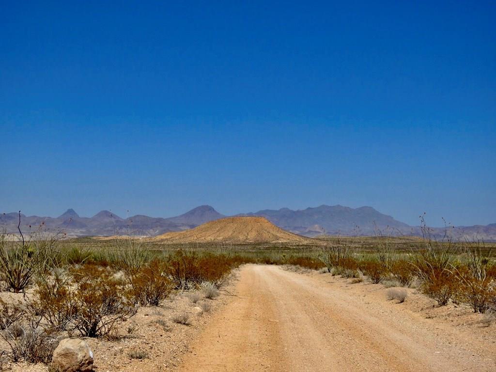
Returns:
[[[284,230],[307,237],[318,235],[370,236],[378,231],[394,235],[422,235],[420,227],[409,226],[369,206],[350,208],[342,205],[320,205],[303,210],[265,209],[236,216],[265,217]],[[201,205],[182,215],[169,218],[145,215],[121,218],[108,210],[100,211],[93,217],[80,217],[73,209],[67,209],[62,215],[55,218],[21,214],[20,228],[23,233],[29,233],[41,226],[44,231],[60,231],[70,237],[129,234],[157,236],[168,232],[192,229],[224,217],[228,216],[217,212],[209,205]],[[0,214],[0,229],[7,233],[17,233],[18,223],[18,213]],[[444,232],[444,228],[431,230],[434,238],[442,238]],[[484,241],[496,241],[496,224],[450,228],[448,234],[455,239],[477,238]]]

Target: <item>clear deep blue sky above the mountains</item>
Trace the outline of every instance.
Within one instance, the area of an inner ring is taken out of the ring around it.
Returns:
[[[7,2],[0,212],[496,222],[491,1]]]

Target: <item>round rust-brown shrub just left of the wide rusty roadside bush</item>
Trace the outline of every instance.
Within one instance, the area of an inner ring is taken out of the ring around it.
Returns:
[[[167,277],[167,264],[153,260],[130,278],[131,295],[141,305],[159,306],[172,292],[173,284]]]

